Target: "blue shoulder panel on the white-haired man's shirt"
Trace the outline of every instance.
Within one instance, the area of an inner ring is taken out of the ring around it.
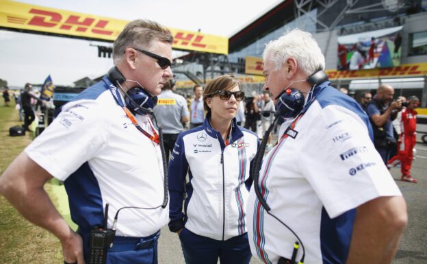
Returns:
[[[319,90],[316,91],[317,89]],[[367,117],[365,111],[363,111],[360,104],[356,100],[348,95],[345,95],[344,93],[341,93],[332,86],[325,86],[324,84],[321,84],[318,88],[316,88],[314,93],[315,99],[319,102],[322,108],[331,105],[341,106],[358,115],[363,120],[363,123],[365,123],[371,140],[374,139],[372,125],[370,123],[369,117]]]

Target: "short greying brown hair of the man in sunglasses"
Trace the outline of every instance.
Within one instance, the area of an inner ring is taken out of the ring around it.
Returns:
[[[169,29],[154,21],[137,19],[127,23],[114,41],[114,65],[122,60],[128,47],[148,49],[153,40],[172,44],[173,36]]]

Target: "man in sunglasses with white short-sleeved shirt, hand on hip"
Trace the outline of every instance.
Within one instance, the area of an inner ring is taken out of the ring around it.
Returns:
[[[132,115],[127,92],[139,88],[153,103],[172,77],[172,40],[153,21],[128,23],[114,42],[115,68],[64,105],[0,178],[0,192],[12,205],[60,239],[65,263],[92,263],[98,251],[90,254],[97,244],[90,237],[103,228],[115,230],[111,248],[100,243],[106,263],[157,263],[159,229],[168,220],[161,150],[151,118]],[[64,181],[77,232],[43,189],[52,178]],[[151,210],[126,208],[117,215],[126,206]]]

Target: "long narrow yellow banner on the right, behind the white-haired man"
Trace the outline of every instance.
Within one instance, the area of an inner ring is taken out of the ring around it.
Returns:
[[[328,73],[329,80],[424,76],[427,75],[427,63],[400,64],[399,67],[357,71],[326,70],[326,73]]]

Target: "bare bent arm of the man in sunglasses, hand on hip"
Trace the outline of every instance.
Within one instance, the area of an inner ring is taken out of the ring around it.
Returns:
[[[51,178],[51,174],[22,152],[0,177],[0,193],[23,217],[60,239],[64,261],[84,264],[81,237],[68,227],[43,189]]]

